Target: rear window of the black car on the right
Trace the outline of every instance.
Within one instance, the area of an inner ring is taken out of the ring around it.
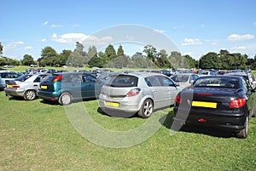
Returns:
[[[239,80],[230,77],[201,77],[193,85],[194,87],[239,88]]]

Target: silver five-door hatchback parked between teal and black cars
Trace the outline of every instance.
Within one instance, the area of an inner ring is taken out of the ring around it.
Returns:
[[[181,90],[170,77],[152,72],[117,73],[102,87],[99,105],[103,111],[137,113],[150,117],[154,110],[174,105]]]

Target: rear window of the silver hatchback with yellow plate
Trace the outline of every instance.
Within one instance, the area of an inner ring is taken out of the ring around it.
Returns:
[[[114,75],[111,76],[108,83],[106,85],[111,87],[137,87],[137,81],[138,78],[135,76],[129,76],[129,75]]]

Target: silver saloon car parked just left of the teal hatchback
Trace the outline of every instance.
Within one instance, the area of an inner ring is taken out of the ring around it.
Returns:
[[[44,77],[49,76],[47,73],[26,74],[15,80],[7,80],[5,94],[14,97],[23,97],[25,100],[35,100],[38,96],[39,83]]]

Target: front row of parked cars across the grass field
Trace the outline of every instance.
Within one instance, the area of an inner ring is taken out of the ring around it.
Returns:
[[[112,116],[126,113],[147,118],[155,110],[173,105],[177,129],[184,124],[214,127],[246,138],[249,119],[256,112],[254,84],[247,77],[231,75],[183,73],[168,77],[145,71],[108,71],[95,77],[87,72],[56,72],[6,80],[4,91],[25,100],[38,96],[61,105],[98,98],[102,111]]]

